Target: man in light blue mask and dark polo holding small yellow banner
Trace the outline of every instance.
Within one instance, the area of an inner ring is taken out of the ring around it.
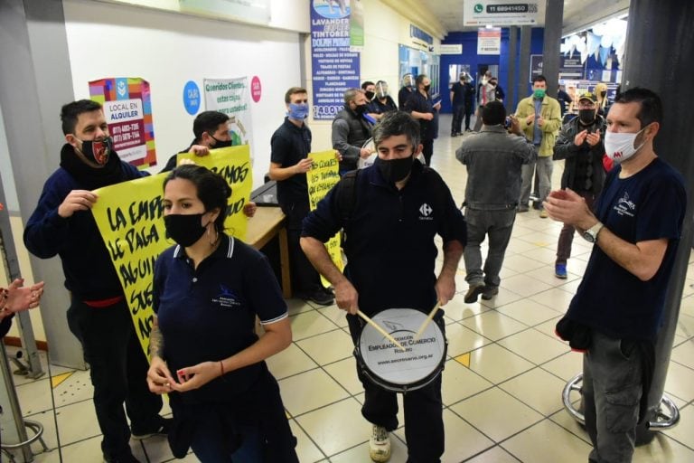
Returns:
[[[299,246],[301,222],[309,212],[306,172],[314,161],[311,152],[311,130],[308,118],[308,94],[292,87],[285,94],[286,118],[270,139],[270,178],[277,181],[277,199],[286,215],[286,235],[295,294],[322,306],[333,304],[333,293],[321,284],[318,272],[306,260]]]

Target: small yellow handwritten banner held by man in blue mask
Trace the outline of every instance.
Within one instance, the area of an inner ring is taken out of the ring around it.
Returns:
[[[314,160],[311,170],[306,172],[306,183],[308,184],[308,201],[313,211],[318,203],[324,198],[331,188],[340,181],[338,173],[338,162],[335,151],[322,151],[320,153],[309,153],[308,157]],[[325,243],[325,249],[330,254],[335,266],[342,271],[342,250],[340,233]],[[330,286],[330,282],[321,276],[324,286]]]

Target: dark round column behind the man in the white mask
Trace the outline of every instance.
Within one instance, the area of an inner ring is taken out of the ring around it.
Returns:
[[[632,0],[629,5],[623,90],[646,87],[662,99],[664,117],[654,140],[655,152],[680,171],[688,186],[689,207],[684,221],[680,248],[675,257],[668,293],[665,297],[663,325],[655,345],[655,371],[648,397],[649,418],[660,414],[661,398],[670,364],[677,321],[680,315],[692,241],[694,215],[694,132],[689,123],[694,89],[681,85],[682,78],[694,72],[694,4],[678,0]],[[644,60],[643,57],[648,57]],[[677,91],[673,91],[677,89]],[[653,438],[653,432],[637,430],[637,442]]]

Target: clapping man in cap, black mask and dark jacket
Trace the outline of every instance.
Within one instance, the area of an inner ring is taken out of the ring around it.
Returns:
[[[578,99],[578,116],[561,128],[553,156],[555,161],[566,159],[564,174],[561,175],[561,188],[570,188],[580,194],[591,209],[605,183],[605,119],[597,115],[596,109],[595,94],[590,91],[583,93]],[[554,274],[558,279],[567,278],[567,260],[571,256],[574,231],[572,225],[565,223],[559,233],[557,261],[554,265]]]

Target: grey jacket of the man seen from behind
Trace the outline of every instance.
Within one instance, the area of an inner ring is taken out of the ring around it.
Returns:
[[[478,134],[463,139],[455,151],[467,166],[465,205],[470,209],[512,209],[521,195],[521,165],[537,159],[535,147],[523,135],[502,126],[483,126]]]

